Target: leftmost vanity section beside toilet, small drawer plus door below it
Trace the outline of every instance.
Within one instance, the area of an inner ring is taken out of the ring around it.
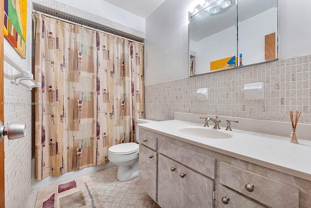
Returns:
[[[139,134],[140,135],[140,134]],[[139,185],[157,201],[157,138],[141,134],[139,140]]]

